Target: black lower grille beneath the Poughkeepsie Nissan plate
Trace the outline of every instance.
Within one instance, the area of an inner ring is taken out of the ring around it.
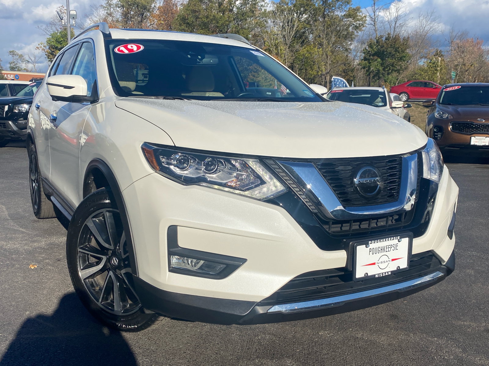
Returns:
[[[353,281],[353,272],[346,268],[307,272],[290,280],[262,300],[260,305],[295,303],[366,291],[419,278],[437,269],[445,273],[444,267],[433,253],[422,252],[412,255],[409,269],[406,271],[359,282]]]

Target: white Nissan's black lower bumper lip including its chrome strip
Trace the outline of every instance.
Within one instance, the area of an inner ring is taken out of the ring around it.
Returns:
[[[384,304],[435,285],[454,269],[452,252],[444,265],[430,265],[418,275],[404,273],[403,279],[387,281],[380,287],[363,284],[360,291],[284,304],[179,294],[159,289],[137,277],[134,285],[145,309],[158,314],[205,323],[249,325],[317,318]]]

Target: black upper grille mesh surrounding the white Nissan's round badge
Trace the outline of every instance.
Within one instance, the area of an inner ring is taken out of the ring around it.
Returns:
[[[342,159],[313,159],[310,160],[331,186],[344,207],[370,206],[396,202],[402,172],[402,157],[381,156],[374,158],[342,158]],[[354,189],[354,175],[362,166],[375,166],[382,174],[384,188],[372,199],[367,199]]]

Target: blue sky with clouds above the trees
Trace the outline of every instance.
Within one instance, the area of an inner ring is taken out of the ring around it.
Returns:
[[[369,7],[371,0],[352,0],[354,6]],[[420,12],[435,9],[439,17],[441,32],[438,39],[443,41],[448,30],[467,30],[469,37],[483,39],[489,45],[489,0],[399,0],[409,11],[414,21]],[[70,8],[78,13],[83,21],[89,13],[90,4],[99,4],[101,0],[72,0]],[[54,15],[56,8],[65,5],[64,0],[0,0],[0,59],[4,70],[8,70],[9,50],[23,54],[39,52],[36,46],[46,36],[36,28],[45,25]],[[38,71],[46,71],[48,64],[43,58]]]

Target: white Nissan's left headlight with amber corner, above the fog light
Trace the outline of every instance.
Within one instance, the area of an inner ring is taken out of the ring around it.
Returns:
[[[287,189],[256,159],[183,152],[143,143],[146,160],[159,174],[180,184],[197,184],[257,200]]]

